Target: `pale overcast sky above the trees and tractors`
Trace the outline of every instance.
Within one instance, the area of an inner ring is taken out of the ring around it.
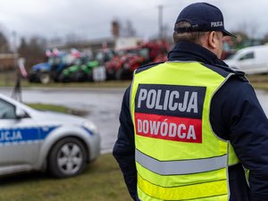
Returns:
[[[132,22],[139,37],[158,33],[158,5],[163,5],[163,24],[172,27],[181,9],[194,0],[0,0],[0,30],[21,38],[42,36],[81,38],[111,36],[114,19]],[[268,33],[267,0],[209,0],[224,15],[226,29],[247,30],[253,36]]]

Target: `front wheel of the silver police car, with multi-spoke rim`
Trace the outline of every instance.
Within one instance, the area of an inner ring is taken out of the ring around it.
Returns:
[[[51,149],[48,169],[57,178],[71,177],[86,168],[86,149],[77,138],[63,138]]]

